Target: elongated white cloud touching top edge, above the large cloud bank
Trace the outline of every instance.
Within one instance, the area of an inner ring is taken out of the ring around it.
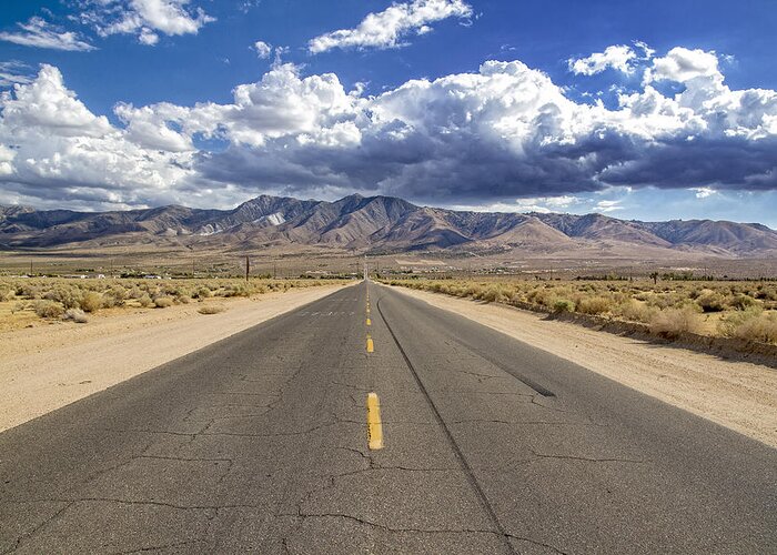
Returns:
[[[464,0],[413,0],[394,3],[379,13],[370,13],[354,29],[341,29],[312,39],[311,53],[335,48],[396,48],[408,34],[432,31],[431,23],[448,18],[471,18],[472,7]]]

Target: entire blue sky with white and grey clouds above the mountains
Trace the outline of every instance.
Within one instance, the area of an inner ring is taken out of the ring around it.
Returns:
[[[0,204],[465,210],[777,228],[773,0],[24,0]]]

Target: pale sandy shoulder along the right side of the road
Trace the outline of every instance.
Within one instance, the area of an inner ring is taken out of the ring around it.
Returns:
[[[512,306],[395,287],[777,447],[777,372],[589,330]]]

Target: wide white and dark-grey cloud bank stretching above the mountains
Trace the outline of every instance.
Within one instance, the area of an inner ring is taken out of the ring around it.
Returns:
[[[682,92],[665,95],[658,81]],[[777,190],[777,92],[731,90],[714,52],[685,48],[646,61],[639,89],[609,108],[514,60],[375,97],[275,64],[230,103],[120,103],[120,125],[44,65],[0,110],[0,203],[225,206],[259,192],[360,191],[462,205],[614,186]]]

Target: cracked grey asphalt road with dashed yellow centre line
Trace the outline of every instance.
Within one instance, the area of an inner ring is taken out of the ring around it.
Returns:
[[[0,434],[0,553],[157,551],[777,553],[777,450],[362,283]]]

